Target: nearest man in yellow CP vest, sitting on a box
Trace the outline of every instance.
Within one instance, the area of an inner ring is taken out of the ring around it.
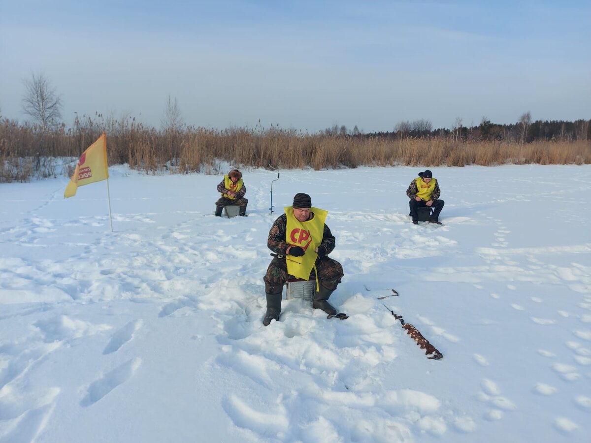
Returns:
[[[275,258],[264,278],[267,312],[262,324],[265,326],[272,320],[279,320],[283,285],[292,277],[305,280],[315,277],[312,307],[323,310],[329,318],[347,318],[345,314],[337,314],[328,302],[343,278],[343,267],[327,257],[335,249],[335,236],[324,223],[327,214],[312,206],[308,194],[298,193],[293,205],[285,207],[285,213],[271,226],[267,246],[275,253]]]

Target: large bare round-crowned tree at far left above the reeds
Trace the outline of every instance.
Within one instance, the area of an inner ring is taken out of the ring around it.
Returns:
[[[31,79],[22,81],[25,94],[22,96],[22,111],[33,118],[46,131],[56,126],[61,119],[61,97],[44,73],[33,73]]]

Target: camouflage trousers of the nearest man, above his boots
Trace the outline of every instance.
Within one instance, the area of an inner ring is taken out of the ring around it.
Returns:
[[[329,291],[334,291],[336,286],[340,283],[345,273],[343,266],[339,262],[328,257],[319,258],[316,260],[316,269],[318,271],[318,281],[320,285]],[[310,272],[310,278],[314,278],[314,268]],[[283,285],[288,279],[293,278],[293,275],[287,273],[287,263],[284,258],[277,258],[271,260],[267,273],[263,280],[265,281],[265,292],[267,294],[281,294]]]

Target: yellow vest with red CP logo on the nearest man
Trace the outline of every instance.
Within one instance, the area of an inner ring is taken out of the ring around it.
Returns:
[[[293,206],[286,206],[284,209],[287,216],[285,242],[291,246],[300,246],[304,250],[304,255],[301,257],[285,257],[287,273],[296,278],[307,280],[310,278],[312,269],[316,272],[315,263],[318,254],[315,249],[322,243],[324,221],[329,212],[311,207],[310,212],[314,213],[314,218],[307,222],[300,222],[294,216]],[[316,291],[319,290],[318,273],[316,272]]]

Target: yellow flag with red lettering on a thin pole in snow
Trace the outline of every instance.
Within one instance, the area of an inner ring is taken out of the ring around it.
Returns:
[[[74,175],[66,187],[64,197],[73,197],[79,186],[109,178],[107,168],[107,137],[103,132],[96,142],[86,149],[76,164]]]

